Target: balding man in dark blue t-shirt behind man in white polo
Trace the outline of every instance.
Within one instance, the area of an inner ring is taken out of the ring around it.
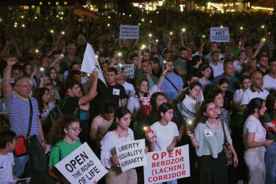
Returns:
[[[235,90],[239,89],[239,79],[235,77],[235,67],[232,61],[225,61],[224,62],[224,73],[216,76],[213,79],[212,85],[217,85],[220,79],[225,78],[228,81],[228,88],[227,91],[233,94]]]

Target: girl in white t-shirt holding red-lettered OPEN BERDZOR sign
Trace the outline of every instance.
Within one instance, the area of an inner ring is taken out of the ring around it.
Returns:
[[[177,144],[177,136],[179,135],[177,125],[172,122],[173,108],[168,103],[162,103],[158,108],[159,121],[150,126],[155,138],[146,134],[146,139],[150,141],[150,150],[159,151],[166,150],[172,152]],[[168,184],[177,184],[177,180],[168,181]]]

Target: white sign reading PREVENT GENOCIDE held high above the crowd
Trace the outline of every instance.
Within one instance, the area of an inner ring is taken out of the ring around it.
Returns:
[[[121,25],[120,39],[139,39],[139,25]]]

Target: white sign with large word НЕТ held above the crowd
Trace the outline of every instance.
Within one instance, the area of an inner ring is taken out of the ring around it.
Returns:
[[[229,42],[228,28],[210,28],[210,39],[215,42]]]

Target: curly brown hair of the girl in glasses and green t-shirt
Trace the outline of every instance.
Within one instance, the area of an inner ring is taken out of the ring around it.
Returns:
[[[60,116],[50,129],[47,139],[48,143],[50,143],[50,145],[55,145],[61,139],[64,139],[66,136],[64,128],[68,128],[72,122],[79,122],[79,120],[68,115]]]

